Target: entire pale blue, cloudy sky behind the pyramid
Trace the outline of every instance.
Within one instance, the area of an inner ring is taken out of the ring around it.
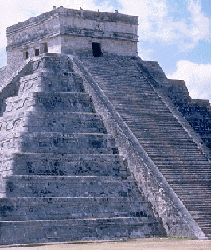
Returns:
[[[139,16],[139,56],[158,61],[169,78],[185,80],[192,98],[211,102],[211,0],[0,0],[0,67],[6,27],[53,6]]]

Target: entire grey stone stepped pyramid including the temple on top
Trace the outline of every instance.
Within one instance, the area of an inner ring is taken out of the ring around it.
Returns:
[[[137,55],[138,17],[7,28],[0,245],[211,237],[211,107]]]

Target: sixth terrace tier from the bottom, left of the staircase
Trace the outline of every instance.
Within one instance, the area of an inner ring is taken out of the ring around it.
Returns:
[[[25,112],[23,116],[4,117],[1,131],[107,133],[102,119],[95,113]]]

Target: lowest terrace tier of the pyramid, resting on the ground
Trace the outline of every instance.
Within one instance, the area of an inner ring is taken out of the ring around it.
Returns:
[[[27,244],[165,236],[160,221],[145,217],[1,221],[0,242]]]

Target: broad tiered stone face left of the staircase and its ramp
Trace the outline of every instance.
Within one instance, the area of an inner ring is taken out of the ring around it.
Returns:
[[[165,236],[67,57],[32,64],[0,118],[0,245]]]

